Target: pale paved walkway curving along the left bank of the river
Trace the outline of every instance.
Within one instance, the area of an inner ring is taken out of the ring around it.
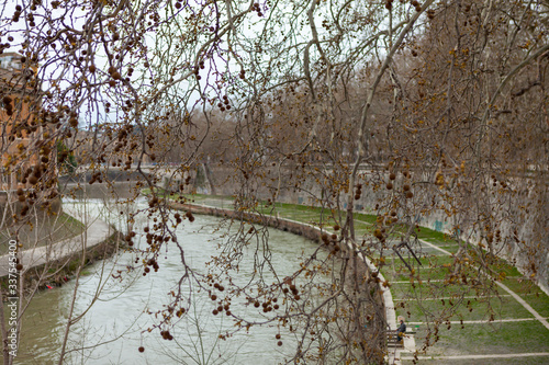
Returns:
[[[72,237],[57,243],[23,251],[23,270],[63,259],[75,252],[81,252],[83,249],[89,249],[103,242],[107,238],[114,233],[113,228],[101,219],[94,218],[90,221],[90,217],[82,217],[82,215],[77,212],[67,209],[64,209],[64,212],[82,223],[88,223],[89,226],[80,236]],[[0,277],[5,276],[9,273],[9,254],[0,256]]]

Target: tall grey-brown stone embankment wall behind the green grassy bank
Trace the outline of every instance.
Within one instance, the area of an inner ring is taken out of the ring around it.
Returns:
[[[197,170],[199,171],[199,170]],[[216,195],[234,195],[242,190],[243,181],[239,174],[235,174],[234,169],[223,166],[200,166],[200,174],[205,174],[208,179],[195,179],[197,172],[191,173],[192,184],[188,185],[187,192],[195,192],[199,194],[211,194],[212,191]],[[287,169],[282,171],[281,190],[277,196],[277,201],[281,203],[318,205],[315,197],[322,197],[323,194],[318,184],[310,178],[305,178],[301,182],[301,191],[298,191],[291,184],[285,184],[291,181],[290,176],[294,170]],[[384,170],[372,172],[362,171],[361,173],[374,173],[378,178],[389,181],[389,172]],[[421,180],[425,183],[422,186],[412,186],[414,190],[414,202],[416,206],[424,205],[425,208],[421,215],[414,217],[416,223],[423,227],[427,227],[437,231],[446,232],[455,236],[459,233],[460,239],[470,243],[477,244],[485,237],[484,227],[479,227],[477,223],[479,217],[489,216],[490,221],[497,227],[494,230],[500,230],[501,239],[493,242],[492,252],[497,255],[514,262],[517,269],[525,274],[534,277],[537,284],[549,295],[549,227],[547,217],[549,217],[549,194],[547,193],[547,175],[544,171],[530,171],[527,174],[515,175],[506,179],[506,184],[512,187],[515,193],[505,193],[502,195],[500,184],[492,184],[492,178],[485,176],[483,183],[486,190],[483,191],[482,199],[475,199],[473,196],[462,196],[462,199],[469,199],[462,205],[464,208],[458,214],[449,214],[444,210],[429,209],[432,202],[439,202],[439,187],[434,183],[433,175],[424,175]],[[285,179],[285,178],[288,179]],[[278,173],[276,171],[266,171],[264,182],[269,182],[271,187],[262,184],[257,184],[248,190],[248,193],[255,194],[260,199],[272,197],[272,186],[278,184]],[[402,183],[402,176],[397,174],[394,181],[395,187]],[[206,183],[208,182],[208,183]],[[178,182],[180,183],[180,182]],[[452,181],[453,186],[459,183]],[[173,186],[175,184],[171,184]],[[170,189],[169,181],[165,181],[165,187]],[[447,186],[451,189],[451,185]],[[306,192],[306,193],[305,193]],[[373,213],[372,208],[382,201],[386,191],[384,189],[373,190],[371,186],[365,186],[359,199],[355,201],[355,209],[357,212]],[[341,207],[346,207],[346,202],[340,202]],[[460,227],[459,231],[455,228]]]

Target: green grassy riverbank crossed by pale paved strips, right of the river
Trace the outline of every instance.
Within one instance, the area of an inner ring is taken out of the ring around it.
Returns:
[[[194,204],[223,208],[229,208],[234,203],[229,197],[222,196],[193,195],[190,198]],[[277,203],[272,206],[264,202],[258,210],[271,217],[291,218],[317,227],[335,224],[326,219],[320,208],[305,205]],[[373,215],[356,214],[357,236],[373,235],[374,223]],[[395,252],[389,252],[381,269],[394,301],[393,306],[385,300],[386,307],[396,307],[396,315],[403,316],[408,328],[416,332],[408,335],[408,340],[413,340],[408,341],[410,345],[405,341],[405,352],[391,351],[391,364],[400,364],[397,358],[403,364],[411,364],[415,354],[422,355],[419,363],[428,363],[425,360],[428,356],[446,363],[445,356],[467,358],[485,353],[492,355],[483,358],[483,363],[493,365],[500,364],[504,354],[509,358],[528,355],[534,363],[549,358],[549,331],[545,326],[549,317],[549,296],[541,288],[511,263],[494,258],[496,262],[492,264],[492,275],[479,274],[477,278],[483,283],[485,290],[478,292],[473,285],[452,282],[450,269],[455,253],[463,247],[471,254],[477,250],[471,244],[457,242],[425,227],[418,228],[417,238],[414,252],[421,265],[407,255],[400,258]],[[372,261],[376,260],[381,258],[374,255]],[[407,265],[412,265],[415,274],[410,272]],[[473,273],[471,278],[474,278]],[[460,297],[464,301],[459,300]],[[435,318],[441,317],[456,319],[451,323],[457,324],[450,327],[449,321],[442,326],[435,321]],[[435,327],[439,330],[436,343],[433,343]],[[429,345],[426,346],[426,343]],[[451,362],[462,364],[459,360]]]

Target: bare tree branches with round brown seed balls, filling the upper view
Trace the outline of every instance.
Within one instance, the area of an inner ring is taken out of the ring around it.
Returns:
[[[0,80],[3,189],[26,187],[4,224],[16,232],[57,198],[70,156],[90,184],[108,168],[156,163],[179,190],[197,167],[229,168],[243,214],[298,193],[330,221],[327,258],[305,258],[276,284],[258,271],[247,297],[267,308],[285,298],[265,322],[304,333],[289,361],[380,362],[383,308],[356,253],[382,266],[395,240],[412,244],[418,217],[447,220],[462,244],[449,284],[483,282],[463,262],[493,273],[497,255],[548,276],[548,11],[546,0],[4,2],[0,56],[19,66]],[[160,184],[145,175],[139,187]],[[360,199],[378,215],[363,237]],[[192,215],[169,215],[156,193],[142,214],[157,218],[138,232],[143,270],[161,265],[166,244],[186,269],[155,328],[169,338],[170,318],[189,306],[182,288],[219,277],[187,265],[173,227]],[[243,227],[217,258],[228,275],[249,236],[267,239]],[[256,260],[264,267],[270,255]],[[318,292],[325,300],[299,298]],[[365,330],[366,318],[378,327]]]

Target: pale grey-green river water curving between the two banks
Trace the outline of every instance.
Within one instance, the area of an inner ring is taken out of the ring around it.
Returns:
[[[82,209],[83,204],[65,202],[68,209]],[[130,209],[145,208],[144,201]],[[105,205],[102,201],[88,201],[86,209],[90,216],[101,214],[120,229],[124,220],[120,206]],[[125,207],[127,209],[127,206]],[[113,214],[116,213],[116,214]],[[219,252],[222,231],[221,219],[197,216],[194,223],[186,220],[177,228],[177,237],[184,249],[186,260],[199,273],[206,273],[205,262]],[[136,220],[134,229],[143,231],[146,218]],[[317,244],[302,237],[268,229],[272,265],[278,275],[290,275],[299,270],[303,253],[317,249]],[[146,247],[145,242],[141,242]],[[235,273],[236,284],[249,282],[254,271],[254,250],[245,252]],[[143,276],[143,269],[136,266],[135,255],[124,252],[120,255],[96,262],[86,267],[76,292],[75,313],[83,313],[71,328],[67,364],[277,364],[295,347],[299,333],[288,333],[276,324],[253,327],[249,333],[237,332],[228,340],[220,340],[220,333],[234,329],[232,317],[224,313],[213,316],[214,304],[204,290],[188,288],[190,298],[189,313],[175,324],[171,333],[173,341],[163,340],[158,330],[146,330],[158,321],[147,311],[157,311],[169,303],[167,294],[176,287],[183,270],[179,251],[169,248],[158,259],[160,270]],[[126,272],[127,266],[135,270]],[[122,280],[112,277],[116,270],[126,272]],[[20,343],[16,364],[53,364],[58,358],[60,343],[67,322],[70,303],[75,294],[75,282],[38,293],[31,301],[24,316],[23,337]],[[101,288],[98,294],[98,288]],[[191,295],[192,294],[192,295]],[[90,304],[93,304],[90,306]],[[265,319],[262,312],[253,306],[233,304],[233,313],[247,318]],[[274,335],[282,334],[283,344],[279,346]],[[293,338],[292,338],[293,337]],[[139,346],[145,351],[141,353]]]

